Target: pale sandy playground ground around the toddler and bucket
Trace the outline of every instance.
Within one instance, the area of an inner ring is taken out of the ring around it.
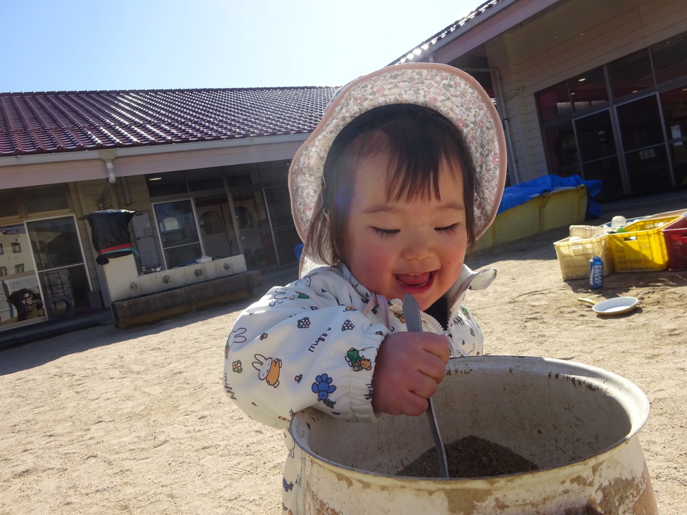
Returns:
[[[635,382],[660,513],[687,513],[687,272],[563,281],[554,229],[473,255],[497,280],[471,292],[488,354],[564,358]],[[264,285],[264,290],[268,284]],[[262,292],[261,292],[262,293]],[[632,295],[597,317],[577,297]],[[225,338],[248,302],[155,325],[100,326],[0,352],[0,514],[278,514],[282,433],[225,395]]]

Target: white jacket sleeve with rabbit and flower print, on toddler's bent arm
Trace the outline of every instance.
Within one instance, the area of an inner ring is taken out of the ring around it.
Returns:
[[[348,295],[298,281],[272,288],[236,320],[225,347],[224,386],[249,416],[273,427],[315,407],[374,422],[372,370],[389,330]]]

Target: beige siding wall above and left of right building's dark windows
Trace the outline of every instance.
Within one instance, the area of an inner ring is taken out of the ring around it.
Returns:
[[[534,93],[684,32],[680,0],[570,0],[487,44],[499,69],[519,181],[548,173]]]

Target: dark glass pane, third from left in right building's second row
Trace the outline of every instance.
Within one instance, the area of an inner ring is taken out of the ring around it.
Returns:
[[[618,122],[625,152],[663,142],[663,127],[655,95],[618,106]]]

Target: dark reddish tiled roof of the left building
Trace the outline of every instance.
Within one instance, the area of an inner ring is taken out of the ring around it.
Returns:
[[[0,157],[310,133],[336,90],[0,93]]]

